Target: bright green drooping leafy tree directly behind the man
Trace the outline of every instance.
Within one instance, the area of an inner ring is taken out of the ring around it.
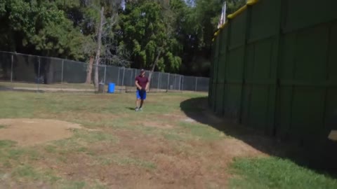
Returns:
[[[159,71],[178,70],[180,44],[173,36],[169,16],[156,1],[130,3],[121,14],[121,32],[133,66]]]

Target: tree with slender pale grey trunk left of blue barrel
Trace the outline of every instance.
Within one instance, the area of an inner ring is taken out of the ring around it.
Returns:
[[[91,83],[93,62],[95,62],[94,86],[98,89],[99,64],[114,64],[121,60],[119,50],[114,45],[114,26],[117,25],[117,8],[122,1],[85,1],[81,0],[81,11],[70,13],[77,20],[84,35],[90,38],[84,43],[84,54],[88,57],[86,83]],[[76,15],[76,16],[74,16]],[[115,53],[113,53],[115,52]],[[121,60],[121,62],[123,62]]]

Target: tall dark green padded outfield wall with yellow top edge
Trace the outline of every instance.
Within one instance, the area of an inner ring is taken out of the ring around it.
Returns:
[[[215,34],[209,102],[272,136],[337,130],[337,1],[249,1]]]

